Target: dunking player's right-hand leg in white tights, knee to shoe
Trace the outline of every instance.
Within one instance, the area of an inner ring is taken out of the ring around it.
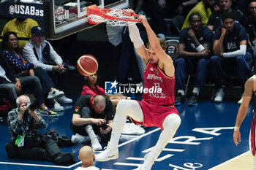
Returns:
[[[176,114],[170,114],[165,117],[162,123],[162,132],[159,136],[157,144],[153,149],[145,155],[144,163],[138,168],[140,170],[149,170],[153,166],[154,161],[158,158],[166,144],[173,138],[181,124],[181,118]]]

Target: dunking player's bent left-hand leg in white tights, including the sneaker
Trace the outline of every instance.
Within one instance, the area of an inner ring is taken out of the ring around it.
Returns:
[[[95,156],[96,161],[109,161],[110,159],[118,158],[118,142],[121,131],[127,121],[127,116],[138,122],[143,122],[143,112],[138,101],[121,100],[118,102],[110,142],[108,142],[108,147],[105,151]]]

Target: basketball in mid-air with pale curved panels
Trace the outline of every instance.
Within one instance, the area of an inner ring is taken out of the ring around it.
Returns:
[[[94,56],[86,54],[82,55],[77,62],[78,72],[83,76],[95,74],[98,70],[98,61]]]

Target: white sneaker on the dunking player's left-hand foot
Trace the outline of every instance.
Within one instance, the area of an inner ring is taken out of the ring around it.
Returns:
[[[109,161],[111,159],[117,159],[117,158],[118,158],[118,148],[110,149],[109,146],[103,152],[95,155],[95,160],[99,162],[105,162],[105,161]]]

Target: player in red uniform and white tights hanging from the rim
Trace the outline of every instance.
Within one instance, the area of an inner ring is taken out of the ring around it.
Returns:
[[[134,11],[124,9],[124,14],[130,16],[134,14]],[[140,170],[148,170],[151,169],[160,152],[176,134],[178,126],[181,124],[181,118],[174,107],[175,74],[173,60],[165,53],[165,41],[159,41],[146,17],[140,15],[140,19],[148,35],[148,49],[140,38],[137,26],[129,26],[129,36],[145,65],[144,89],[153,88],[153,90],[148,90],[148,92],[144,90],[143,101],[141,102],[135,100],[118,102],[110,142],[108,142],[105,151],[96,155],[96,161],[118,158],[118,141],[127,116],[129,116],[134,123],[162,128],[157,144],[145,155],[144,163],[138,167]],[[152,91],[153,93],[151,93]]]

